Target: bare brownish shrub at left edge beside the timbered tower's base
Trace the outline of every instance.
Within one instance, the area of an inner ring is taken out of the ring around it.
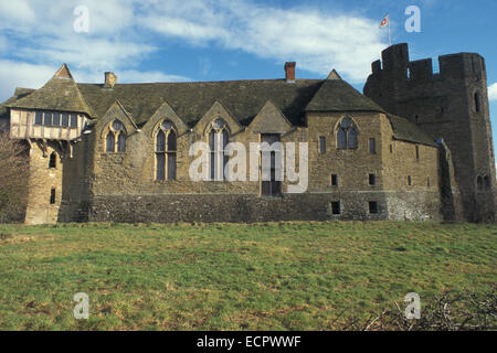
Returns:
[[[28,147],[0,132],[0,223],[23,220],[29,170]]]

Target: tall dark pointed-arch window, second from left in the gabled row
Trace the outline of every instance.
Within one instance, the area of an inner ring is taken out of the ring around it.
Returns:
[[[156,136],[156,180],[177,178],[178,133],[170,120],[165,120]]]

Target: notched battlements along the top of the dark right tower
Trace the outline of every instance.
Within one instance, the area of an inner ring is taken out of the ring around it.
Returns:
[[[395,44],[381,53],[381,61],[371,65],[370,78],[389,77],[394,81],[427,82],[475,77],[486,81],[485,58],[476,53],[457,53],[438,57],[440,74],[433,69],[431,58],[410,61],[406,43]]]

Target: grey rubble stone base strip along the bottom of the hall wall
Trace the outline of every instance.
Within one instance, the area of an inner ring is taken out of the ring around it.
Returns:
[[[67,205],[60,222],[229,222],[271,221],[440,221],[440,197],[429,193],[305,193],[283,197],[253,194],[98,195],[88,204]],[[340,202],[339,215],[332,202]],[[378,213],[369,213],[369,202]],[[87,218],[82,215],[87,215]]]

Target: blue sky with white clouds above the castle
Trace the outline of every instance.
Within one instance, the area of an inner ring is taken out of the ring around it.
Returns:
[[[76,32],[78,6],[88,32]],[[404,11],[421,9],[421,33]],[[487,62],[490,116],[497,113],[497,2],[490,0],[0,0],[0,101],[17,86],[42,86],[62,63],[78,82],[297,78],[336,68],[362,90],[370,63],[388,46],[379,23],[390,13],[393,43],[411,58],[477,52]],[[497,118],[493,119],[494,131]]]

